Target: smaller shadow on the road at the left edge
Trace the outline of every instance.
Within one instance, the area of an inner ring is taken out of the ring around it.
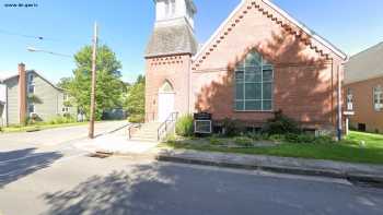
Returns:
[[[57,152],[36,153],[36,148],[0,152],[0,189],[33,172],[49,167],[62,157]]]

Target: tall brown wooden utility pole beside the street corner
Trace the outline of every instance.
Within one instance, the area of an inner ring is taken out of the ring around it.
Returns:
[[[92,92],[91,116],[89,120],[89,138],[94,139],[95,89],[96,89],[96,57],[97,57],[97,23],[94,23],[93,55],[92,55]]]

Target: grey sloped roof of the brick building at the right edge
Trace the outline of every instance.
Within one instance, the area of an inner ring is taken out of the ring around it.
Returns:
[[[345,64],[345,83],[383,76],[383,41],[355,56]]]

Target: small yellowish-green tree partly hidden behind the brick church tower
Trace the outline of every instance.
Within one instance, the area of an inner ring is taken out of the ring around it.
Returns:
[[[125,109],[131,122],[144,121],[144,76],[139,75],[136,83],[128,87]]]

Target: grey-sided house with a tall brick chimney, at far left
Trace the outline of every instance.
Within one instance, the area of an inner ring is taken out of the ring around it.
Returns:
[[[56,116],[77,115],[67,107],[67,94],[34,70],[19,64],[19,74],[0,80],[0,126],[20,124],[28,117],[46,121]]]

